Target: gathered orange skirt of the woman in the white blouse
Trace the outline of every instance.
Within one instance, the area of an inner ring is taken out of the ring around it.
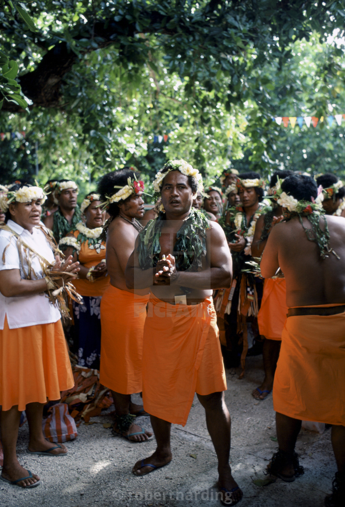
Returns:
[[[74,386],[61,320],[0,331],[0,405],[10,410],[28,403],[60,400]]]

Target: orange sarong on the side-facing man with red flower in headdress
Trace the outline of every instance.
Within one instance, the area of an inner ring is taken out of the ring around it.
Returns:
[[[143,330],[149,295],[109,285],[100,302],[99,382],[121,394],[142,391]]]

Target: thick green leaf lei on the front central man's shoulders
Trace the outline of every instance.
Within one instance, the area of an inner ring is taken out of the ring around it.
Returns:
[[[159,261],[161,230],[165,224],[165,213],[160,212],[155,220],[150,220],[139,233],[139,265],[144,269],[154,268]],[[211,229],[209,221],[198,209],[190,214],[176,235],[174,256],[178,271],[197,271],[202,267],[206,255],[206,230]],[[186,289],[183,289],[186,292]]]

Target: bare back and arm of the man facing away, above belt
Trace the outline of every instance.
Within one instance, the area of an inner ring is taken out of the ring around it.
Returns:
[[[304,227],[310,222],[304,216]],[[314,241],[309,241],[297,216],[273,227],[261,261],[264,278],[283,271],[287,285],[287,305],[312,306],[345,303],[345,220],[338,216],[320,219],[324,229],[327,220],[330,247],[334,253],[322,260]]]

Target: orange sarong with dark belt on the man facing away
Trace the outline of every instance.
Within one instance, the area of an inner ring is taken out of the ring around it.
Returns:
[[[345,425],[345,312],[286,319],[273,407],[294,419]]]

